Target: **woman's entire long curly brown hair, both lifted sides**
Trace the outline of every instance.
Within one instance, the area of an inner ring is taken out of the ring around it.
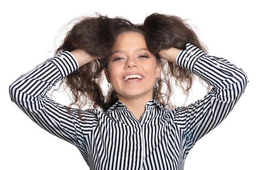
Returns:
[[[187,43],[207,51],[185,20],[177,16],[153,13],[146,17],[144,23],[133,24],[122,17],[109,18],[97,14],[95,17],[77,20],[55,51],[57,54],[61,51],[83,49],[90,55],[101,58],[81,66],[62,80],[61,84],[72,93],[70,108],[75,105],[83,109],[89,104],[93,108],[106,111],[118,101],[117,93],[112,86],[104,93],[107,88],[103,83],[104,69],[108,68],[108,60],[117,37],[125,32],[138,32],[144,35],[149,51],[162,65],[162,76],[157,79],[154,86],[153,99],[157,99],[163,106],[174,108],[175,105],[170,100],[174,93],[173,82],[182,89],[186,97],[189,95],[195,79],[193,73],[162,60],[158,55],[159,51],[170,47],[184,50]]]

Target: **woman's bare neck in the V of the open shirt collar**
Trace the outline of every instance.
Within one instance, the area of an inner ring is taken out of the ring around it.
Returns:
[[[121,97],[121,99],[119,100],[123,102],[127,106],[127,108],[132,112],[135,118],[139,120],[141,116],[144,114],[146,110],[145,106],[150,99],[146,97],[143,97],[142,99],[141,98],[128,99],[128,98]]]

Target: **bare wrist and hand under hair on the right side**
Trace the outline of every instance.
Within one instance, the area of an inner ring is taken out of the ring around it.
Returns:
[[[159,51],[158,54],[162,59],[175,63],[177,55],[180,53],[180,51],[181,51],[180,49],[171,47],[170,49],[164,49]]]

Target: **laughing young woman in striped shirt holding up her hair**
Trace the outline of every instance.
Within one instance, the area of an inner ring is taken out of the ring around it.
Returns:
[[[212,89],[189,106],[173,108],[172,81],[188,94],[194,75]],[[69,107],[46,95],[61,80],[73,94]],[[247,82],[234,64],[207,55],[183,20],[154,13],[141,25],[84,18],[55,57],[9,89],[36,124],[74,144],[90,169],[182,170],[189,150],[227,117]],[[86,104],[93,108],[83,110]]]

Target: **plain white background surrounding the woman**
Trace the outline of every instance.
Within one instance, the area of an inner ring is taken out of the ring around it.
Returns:
[[[10,101],[8,86],[52,57],[54,38],[64,24],[95,11],[135,23],[154,12],[190,19],[210,55],[243,68],[250,81],[245,93],[227,119],[195,144],[184,169],[256,169],[256,13],[252,0],[5,0],[0,2],[1,170],[89,169],[78,149],[41,129]],[[194,91],[189,101],[200,98],[201,93]]]

